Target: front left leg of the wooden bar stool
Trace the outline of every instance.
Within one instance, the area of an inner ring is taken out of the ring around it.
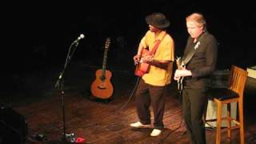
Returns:
[[[221,143],[221,126],[222,126],[222,102],[217,102],[216,144],[220,144]]]

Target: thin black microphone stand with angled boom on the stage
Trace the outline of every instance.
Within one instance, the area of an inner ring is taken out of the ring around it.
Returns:
[[[74,46],[74,49],[73,51],[71,51],[72,47]],[[65,62],[65,65],[64,65],[64,68],[62,70],[62,72],[59,74],[58,76],[58,80],[57,82],[55,83],[54,87],[58,88],[58,90],[60,90],[61,92],[61,95],[62,95],[62,121],[63,121],[63,136],[62,136],[62,140],[63,141],[66,141],[66,138],[67,137],[73,137],[73,140],[74,140],[74,134],[66,134],[66,121],[65,121],[65,97],[64,97],[64,73],[65,73],[65,70],[66,70],[66,67],[68,66],[68,64],[70,63],[70,60],[74,54],[74,51],[76,50],[78,46],[78,40],[75,40],[74,42],[72,42],[70,44],[70,47],[69,47],[69,51],[68,51],[68,54],[66,55],[66,62]]]

